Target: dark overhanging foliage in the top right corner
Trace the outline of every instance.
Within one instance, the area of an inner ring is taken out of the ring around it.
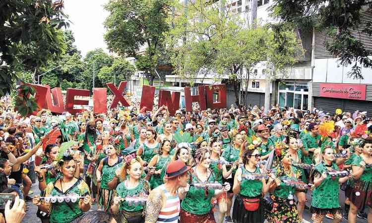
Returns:
[[[372,8],[368,0],[275,0],[272,16],[302,29],[326,29],[327,50],[343,65],[353,65],[348,73],[363,79],[361,66],[372,68],[372,51],[367,50],[359,34],[371,36],[371,23],[361,28],[361,15]]]

